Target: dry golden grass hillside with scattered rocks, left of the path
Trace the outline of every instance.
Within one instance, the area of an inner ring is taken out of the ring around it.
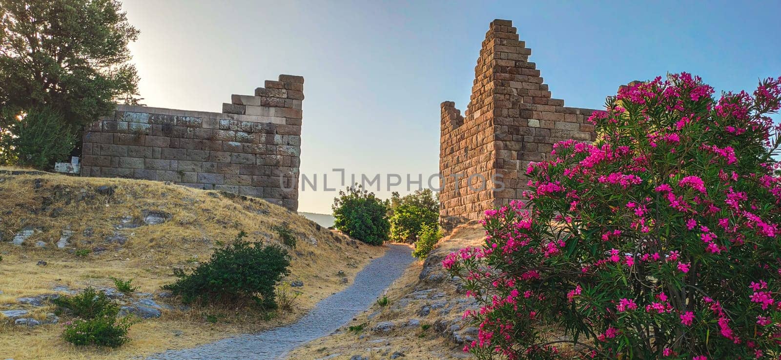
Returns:
[[[66,343],[59,337],[62,321],[23,326],[0,315],[0,358],[128,358],[290,323],[347,287],[384,251],[255,198],[146,180],[16,170],[0,168],[0,311],[26,310],[27,317],[45,323],[53,305],[19,299],[88,286],[111,289],[111,277],[133,279],[138,287],[140,294],[119,301],[145,296],[169,310],[132,326],[131,342],[117,350]],[[180,308],[176,299],[162,297],[160,287],[175,280],[173,269],[208,260],[240,230],[249,241],[279,242],[273,226],[282,223],[298,238],[285,283],[304,284],[285,286],[287,294],[300,293],[292,310]]]

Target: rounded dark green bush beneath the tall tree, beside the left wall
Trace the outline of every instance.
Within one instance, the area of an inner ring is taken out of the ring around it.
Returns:
[[[75,143],[73,127],[59,112],[48,108],[31,110],[0,132],[3,162],[37,169],[52,169],[55,162],[70,154]]]

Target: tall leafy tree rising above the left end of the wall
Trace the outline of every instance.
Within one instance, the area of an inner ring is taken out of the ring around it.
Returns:
[[[15,136],[12,124],[48,108],[73,134],[136,100],[127,45],[138,30],[118,1],[0,0],[0,26],[0,133]]]

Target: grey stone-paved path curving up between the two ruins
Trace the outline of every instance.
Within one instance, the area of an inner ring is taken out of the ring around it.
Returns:
[[[196,348],[166,351],[147,359],[281,358],[296,346],[337,330],[358,312],[369,308],[412,261],[408,246],[391,244],[383,257],[374,259],[355,276],[355,282],[350,287],[320,301],[296,323],[262,333],[230,337]]]

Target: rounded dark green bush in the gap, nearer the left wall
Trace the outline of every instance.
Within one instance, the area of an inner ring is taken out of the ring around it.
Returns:
[[[373,245],[387,240],[391,229],[387,219],[388,201],[376,198],[360,185],[339,191],[339,197],[333,199],[332,209],[333,226],[348,236]]]

